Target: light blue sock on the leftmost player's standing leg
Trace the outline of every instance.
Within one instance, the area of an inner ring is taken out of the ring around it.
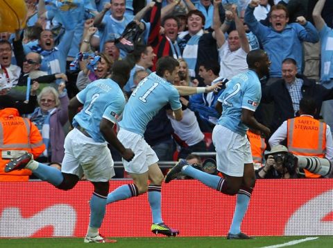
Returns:
[[[106,197],[98,195],[96,192],[92,193],[90,204],[90,220],[89,226],[99,228],[103,222],[105,215]]]

